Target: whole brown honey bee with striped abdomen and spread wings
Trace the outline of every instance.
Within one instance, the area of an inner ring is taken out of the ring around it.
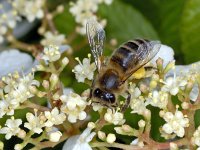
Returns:
[[[117,48],[111,57],[105,59],[103,57],[105,31],[102,26],[94,20],[89,20],[86,24],[86,34],[98,70],[90,91],[92,102],[109,108],[118,107],[119,95],[127,93],[127,99],[121,107],[121,111],[126,110],[131,99],[126,80],[158,53],[160,42],[130,40]]]

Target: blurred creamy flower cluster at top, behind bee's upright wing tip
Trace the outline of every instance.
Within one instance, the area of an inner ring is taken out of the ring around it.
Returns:
[[[98,11],[98,5],[101,3],[110,5],[112,0],[78,0],[76,3],[71,3],[69,11],[75,17],[75,21],[81,25],[77,28],[78,33],[86,33],[85,26],[88,19],[94,18],[97,20],[94,14]]]

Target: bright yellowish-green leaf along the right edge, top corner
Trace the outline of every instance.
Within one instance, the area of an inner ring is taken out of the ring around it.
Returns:
[[[200,59],[200,1],[188,0],[182,16],[182,50],[187,63]]]

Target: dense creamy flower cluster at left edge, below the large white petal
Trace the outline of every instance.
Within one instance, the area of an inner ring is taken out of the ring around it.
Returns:
[[[6,84],[1,92],[0,118],[5,114],[13,115],[21,103],[34,96],[32,87],[39,86],[39,82],[34,80],[34,74],[30,73],[23,78],[19,74],[3,77],[2,81]]]

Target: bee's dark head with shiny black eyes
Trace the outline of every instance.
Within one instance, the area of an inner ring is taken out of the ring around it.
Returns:
[[[114,94],[107,92],[107,91],[103,91],[99,88],[96,88],[93,90],[92,96],[94,98],[99,99],[103,103],[111,103],[111,104],[115,103],[115,95]]]

